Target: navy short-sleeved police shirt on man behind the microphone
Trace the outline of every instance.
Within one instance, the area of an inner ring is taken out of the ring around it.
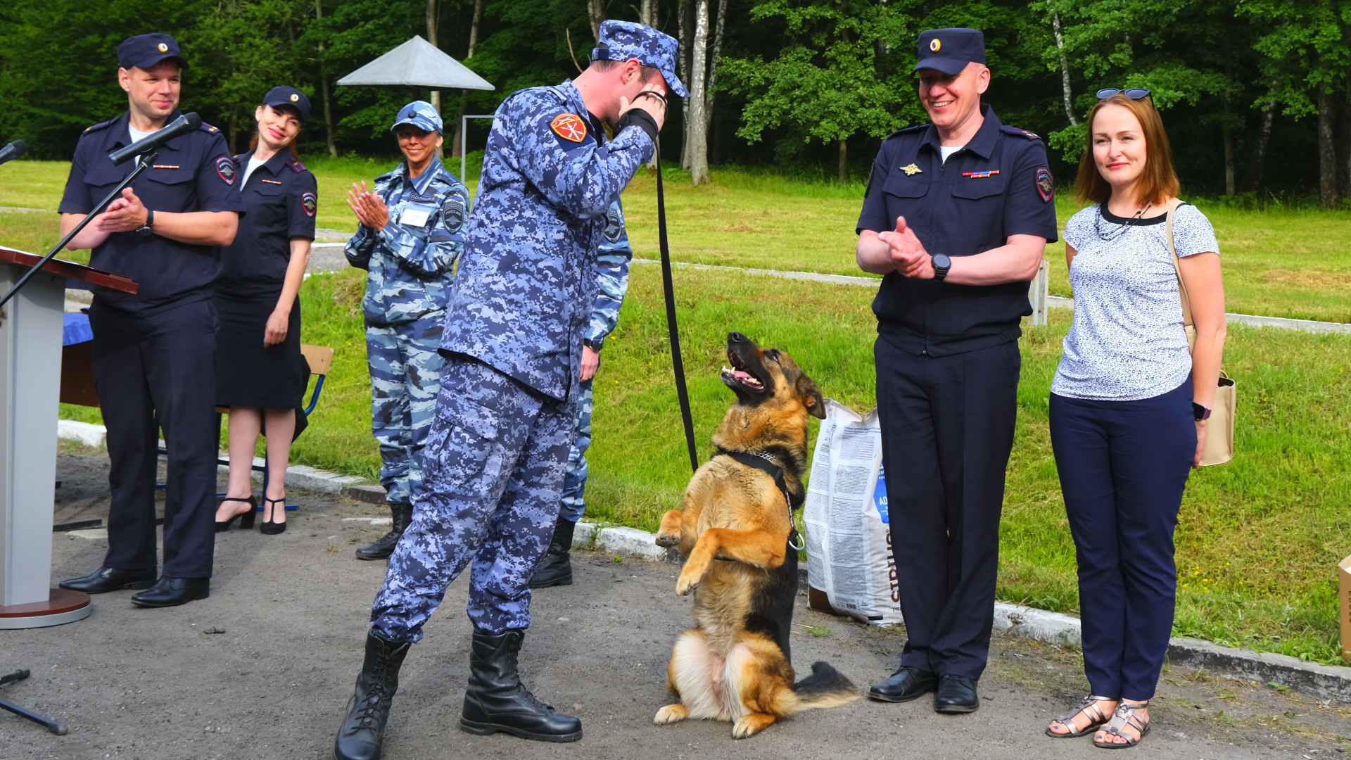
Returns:
[[[178,115],[176,110],[169,122]],[[95,204],[131,173],[135,160],[119,166],[108,160],[108,153],[131,145],[127,122],[128,116],[123,114],[80,135],[58,211],[96,211]],[[239,174],[220,130],[203,124],[200,130],[169,141],[157,153],[151,168],[131,185],[146,208],[169,214],[234,211],[243,215],[245,203],[235,185]],[[209,298],[211,283],[216,279],[216,247],[181,243],[154,234],[142,237],[136,231],[112,233],[93,249],[89,265],[124,275],[141,285],[135,295],[96,288],[95,298],[100,303],[145,315]]]

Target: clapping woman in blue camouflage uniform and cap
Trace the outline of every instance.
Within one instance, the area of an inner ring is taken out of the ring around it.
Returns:
[[[366,322],[370,361],[370,429],[380,442],[380,484],[393,513],[393,527],[369,546],[362,560],[384,560],[412,519],[422,490],[422,450],[440,384],[440,331],[465,249],[461,231],[469,216],[469,191],[440,165],[442,120],[430,103],[404,105],[392,133],[404,161],[376,187],[353,184],[347,206],[361,229],[347,242],[347,261],[366,269]]]

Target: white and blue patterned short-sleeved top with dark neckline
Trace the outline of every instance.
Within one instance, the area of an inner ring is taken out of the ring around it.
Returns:
[[[1065,226],[1065,243],[1077,252],[1074,326],[1051,381],[1058,396],[1151,399],[1192,373],[1163,215],[1131,222],[1090,206]],[[1178,257],[1220,252],[1210,220],[1185,203],[1174,212],[1173,243]]]

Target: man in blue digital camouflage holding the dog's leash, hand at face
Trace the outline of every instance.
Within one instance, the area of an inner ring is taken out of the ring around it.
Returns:
[[[558,519],[605,214],[653,157],[666,91],[686,95],[674,64],[670,37],[605,22],[576,81],[516,92],[497,108],[447,310],[426,490],[372,607],[339,760],[380,756],[408,648],[470,561],[461,729],[582,736],[581,721],[521,686],[516,655],[530,577]]]

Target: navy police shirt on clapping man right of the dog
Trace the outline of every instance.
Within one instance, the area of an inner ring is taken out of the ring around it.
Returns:
[[[873,164],[858,231],[905,223],[931,254],[975,256],[1009,235],[1055,242],[1055,189],[1042,138],[1005,127],[989,105],[985,123],[947,162],[932,124],[892,134]],[[1016,341],[1032,314],[1028,283],[958,285],[882,277],[873,300],[877,331],[915,354],[947,356]]]

